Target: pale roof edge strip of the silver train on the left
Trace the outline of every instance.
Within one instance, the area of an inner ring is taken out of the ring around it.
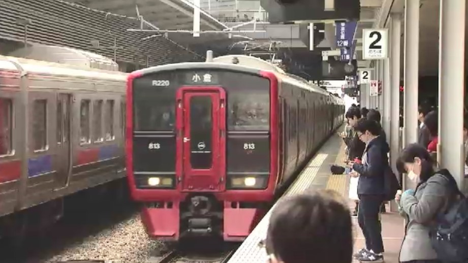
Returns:
[[[26,72],[58,75],[76,78],[91,78],[100,80],[126,81],[128,73],[89,69],[70,64],[54,63],[27,58],[0,56],[0,70],[17,71],[18,65]]]

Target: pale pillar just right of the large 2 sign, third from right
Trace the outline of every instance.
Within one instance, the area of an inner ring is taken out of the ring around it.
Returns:
[[[401,15],[392,14],[391,25],[391,84],[390,84],[390,161],[396,173],[400,137],[400,41]]]

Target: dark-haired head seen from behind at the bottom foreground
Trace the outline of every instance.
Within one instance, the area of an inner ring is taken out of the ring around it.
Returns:
[[[351,213],[331,190],[279,201],[265,241],[270,263],[351,263]]]

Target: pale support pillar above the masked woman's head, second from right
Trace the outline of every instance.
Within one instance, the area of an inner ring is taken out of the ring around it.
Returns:
[[[418,141],[419,4],[404,2],[404,135],[403,146]]]

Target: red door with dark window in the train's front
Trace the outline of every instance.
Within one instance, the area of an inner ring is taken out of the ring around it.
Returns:
[[[221,87],[177,92],[178,177],[184,191],[224,191],[226,105]]]

